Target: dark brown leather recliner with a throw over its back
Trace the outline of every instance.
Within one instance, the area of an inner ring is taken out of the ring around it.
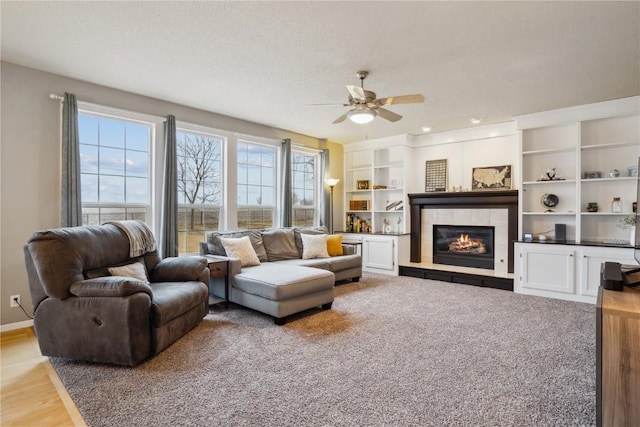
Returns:
[[[112,224],[36,232],[24,255],[45,356],[135,366],[208,312],[204,258],[161,260],[156,250],[131,258],[127,234]],[[109,273],[138,261],[148,282]]]

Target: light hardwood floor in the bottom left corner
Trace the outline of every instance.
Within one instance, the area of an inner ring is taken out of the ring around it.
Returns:
[[[0,425],[86,426],[31,328],[0,336]]]

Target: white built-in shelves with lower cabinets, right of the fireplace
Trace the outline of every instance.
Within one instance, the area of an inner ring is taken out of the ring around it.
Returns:
[[[516,117],[521,132],[519,234],[514,291],[595,303],[603,262],[635,264],[631,229],[618,226],[636,202],[640,97]],[[555,179],[546,175],[555,168]],[[558,179],[560,178],[560,179]],[[558,196],[553,208],[545,194]],[[622,211],[612,212],[619,197]],[[597,204],[597,211],[592,206]],[[556,224],[566,240],[554,241]],[[545,235],[548,240],[538,239]]]

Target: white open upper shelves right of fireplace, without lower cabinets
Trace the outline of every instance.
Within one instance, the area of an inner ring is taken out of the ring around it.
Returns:
[[[521,130],[519,234],[546,234],[566,224],[567,240],[624,245],[629,231],[617,227],[636,202],[640,156],[640,97],[516,117]],[[555,176],[547,171],[555,168]],[[619,176],[614,176],[617,171]],[[545,207],[545,194],[558,204]],[[614,197],[622,212],[612,212]],[[596,212],[589,206],[597,205]],[[627,243],[628,244],[628,243]]]

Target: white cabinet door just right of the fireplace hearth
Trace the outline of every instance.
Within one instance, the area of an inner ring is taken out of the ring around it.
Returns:
[[[574,293],[575,256],[572,248],[527,245],[521,256],[523,288]]]

